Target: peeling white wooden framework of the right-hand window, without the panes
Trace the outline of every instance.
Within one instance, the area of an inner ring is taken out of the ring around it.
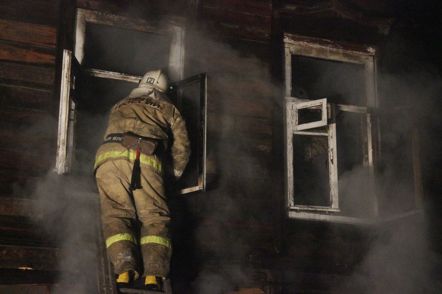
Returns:
[[[284,60],[285,60],[285,111],[284,111],[284,146],[285,146],[285,200],[287,215],[289,218],[295,219],[309,219],[309,220],[323,220],[344,223],[372,223],[373,219],[378,216],[378,204],[376,195],[372,195],[372,211],[373,218],[360,219],[349,217],[340,214],[339,210],[339,195],[338,195],[338,174],[336,160],[336,124],[332,119],[324,134],[318,132],[311,132],[311,135],[327,135],[329,138],[329,164],[330,165],[330,207],[317,206],[300,206],[294,205],[293,195],[293,134],[304,133],[305,130],[296,130],[297,122],[293,119],[295,104],[298,100],[296,97],[290,97],[292,92],[292,55],[301,55],[306,57],[321,58],[324,60],[342,61],[346,63],[361,64],[364,66],[364,91],[365,91],[365,105],[364,106],[350,106],[350,105],[335,105],[337,109],[350,112],[359,112],[366,114],[366,156],[363,159],[363,165],[369,169],[371,180],[374,179],[373,168],[373,150],[372,150],[372,136],[371,136],[371,121],[369,108],[376,108],[378,106],[377,84],[376,84],[376,49],[370,46],[341,46],[337,42],[332,42],[324,39],[316,39],[310,37],[301,37],[292,34],[284,34]],[[347,44],[348,45],[348,44]],[[322,100],[322,99],[321,99]],[[304,100],[311,101],[311,100]],[[319,102],[318,102],[319,103]],[[323,101],[321,105],[323,105]],[[319,104],[318,104],[319,105]],[[317,122],[318,123],[318,122]],[[318,123],[319,126],[319,123]],[[339,146],[338,146],[339,147]],[[368,179],[370,180],[370,179]]]

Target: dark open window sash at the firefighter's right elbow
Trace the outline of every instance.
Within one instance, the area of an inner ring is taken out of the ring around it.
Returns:
[[[197,74],[172,85],[172,97],[186,121],[191,155],[173,193],[205,191],[206,184],[206,95],[207,75]]]

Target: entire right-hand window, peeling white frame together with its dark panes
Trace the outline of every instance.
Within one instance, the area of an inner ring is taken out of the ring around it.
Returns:
[[[383,195],[375,188],[381,137],[376,115],[376,49],[291,34],[284,34],[284,49],[288,217],[344,223],[379,221]],[[349,93],[334,91],[333,83],[342,82],[340,75],[358,85],[343,87]],[[303,82],[309,91],[298,89],[297,83]],[[320,83],[327,82],[321,89]],[[361,188],[349,192],[343,174],[357,170],[363,175]],[[349,209],[348,203],[357,199],[361,200],[353,205],[357,209]]]

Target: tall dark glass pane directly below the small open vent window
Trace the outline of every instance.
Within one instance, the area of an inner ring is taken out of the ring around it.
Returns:
[[[294,204],[330,206],[328,136],[293,135]]]

